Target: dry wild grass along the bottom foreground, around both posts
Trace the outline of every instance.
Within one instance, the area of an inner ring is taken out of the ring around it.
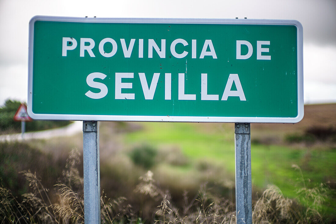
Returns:
[[[30,191],[18,200],[9,189],[0,187],[1,223],[84,223],[83,178],[78,167],[81,155],[73,149],[66,166],[54,185],[51,195],[37,173],[24,171]],[[298,166],[294,168],[300,172]],[[302,172],[299,176],[303,175]],[[281,190],[269,185],[253,203],[254,223],[331,223],[335,220],[325,217],[322,205],[326,203],[331,190],[324,184],[297,188],[297,198],[286,198]],[[126,197],[108,198],[101,194],[102,223],[118,224],[224,224],[236,223],[235,205],[231,200],[213,193],[203,184],[194,196],[185,191],[176,203],[167,189],[155,180],[151,171],[139,178],[134,192],[142,199],[142,205],[134,205]],[[176,197],[176,196],[175,196]],[[155,203],[152,205],[150,201]],[[139,208],[139,209],[135,209]],[[146,210],[146,212],[144,211]],[[147,215],[146,215],[147,214]],[[149,215],[148,215],[149,214]]]

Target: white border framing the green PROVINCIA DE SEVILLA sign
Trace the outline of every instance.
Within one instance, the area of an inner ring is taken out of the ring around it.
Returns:
[[[241,24],[241,25],[294,25],[297,28],[297,87],[298,116],[295,118],[273,117],[191,117],[191,116],[127,116],[127,115],[67,115],[35,114],[33,101],[33,43],[35,21],[62,21],[77,23],[133,23],[133,24]],[[29,21],[28,52],[28,115],[36,120],[76,121],[152,121],[152,122],[235,122],[235,123],[297,123],[302,120],[303,109],[303,28],[297,20],[282,19],[189,19],[189,18],[88,18],[37,15]]]

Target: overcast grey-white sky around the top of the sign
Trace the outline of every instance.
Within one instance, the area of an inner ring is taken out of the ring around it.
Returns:
[[[305,103],[336,102],[336,0],[0,0],[0,105],[27,101],[28,23],[34,15],[296,19],[303,26]]]

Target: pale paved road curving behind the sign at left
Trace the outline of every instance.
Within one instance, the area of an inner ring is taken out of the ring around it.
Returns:
[[[0,135],[0,142],[2,141],[22,141],[22,140],[30,140],[30,139],[48,139],[53,137],[60,136],[69,136],[74,135],[78,132],[83,131],[83,122],[75,121],[68,126],[55,128],[44,131],[36,131],[36,132],[26,132],[24,136],[19,134],[10,134],[10,135]]]

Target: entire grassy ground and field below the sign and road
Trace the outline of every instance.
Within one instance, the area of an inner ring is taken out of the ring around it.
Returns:
[[[254,223],[336,222],[336,122],[330,115],[306,113],[308,119],[296,125],[252,124]],[[100,122],[103,223],[234,223],[233,129],[233,124]],[[81,149],[80,133],[0,143],[0,218],[18,220],[19,210],[28,223],[46,222],[30,216],[38,211],[26,197],[31,195],[45,200],[48,211],[41,212],[62,220],[58,223],[82,223],[82,161],[76,150],[66,159],[72,147]],[[34,179],[43,185],[42,196],[29,187]]]

